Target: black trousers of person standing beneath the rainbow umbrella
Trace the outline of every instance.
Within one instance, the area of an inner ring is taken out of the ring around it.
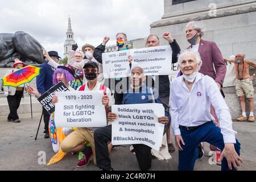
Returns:
[[[10,109],[10,113],[8,115],[7,119],[19,119],[17,110],[19,109],[19,104],[22,98],[23,90],[15,92],[14,96],[8,96],[7,101]]]

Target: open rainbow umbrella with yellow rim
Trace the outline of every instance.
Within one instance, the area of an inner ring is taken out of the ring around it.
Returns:
[[[19,85],[31,82],[36,76],[40,74],[40,69],[41,68],[34,67],[32,65],[28,65],[27,67],[18,69],[10,75],[2,78],[3,86],[17,87]]]

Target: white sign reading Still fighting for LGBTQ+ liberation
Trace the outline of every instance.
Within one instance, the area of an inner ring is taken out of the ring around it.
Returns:
[[[55,105],[56,127],[103,127],[106,126],[103,91],[57,92]]]

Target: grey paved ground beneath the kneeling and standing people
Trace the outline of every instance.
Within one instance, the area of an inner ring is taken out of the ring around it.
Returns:
[[[0,170],[98,170],[91,162],[88,167],[76,168],[77,155],[68,154],[57,164],[52,166],[38,164],[40,151],[46,152],[46,162],[54,155],[49,139],[44,139],[43,123],[41,124],[38,140],[34,140],[41,113],[20,114],[22,122],[13,123],[6,121],[6,115],[0,116]],[[244,164],[240,170],[256,170],[256,124],[249,122],[234,122],[234,129],[238,132],[237,138],[241,142],[241,156]],[[208,147],[205,151],[209,152]],[[115,170],[139,170],[134,154],[129,151],[129,146],[114,148],[110,155],[112,166]],[[210,165],[209,156],[197,160],[195,170],[220,170],[220,166]],[[160,161],[152,160],[151,170],[177,170],[177,151],[172,154],[172,159]]]

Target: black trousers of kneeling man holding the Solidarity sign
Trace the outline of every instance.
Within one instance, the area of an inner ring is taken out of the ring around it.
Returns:
[[[166,133],[169,125],[164,127]],[[110,170],[111,160],[109,158],[108,142],[112,140],[112,126],[101,127],[94,132],[94,144],[97,166],[101,169]],[[147,171],[151,167],[151,147],[145,144],[133,144],[139,168]]]

